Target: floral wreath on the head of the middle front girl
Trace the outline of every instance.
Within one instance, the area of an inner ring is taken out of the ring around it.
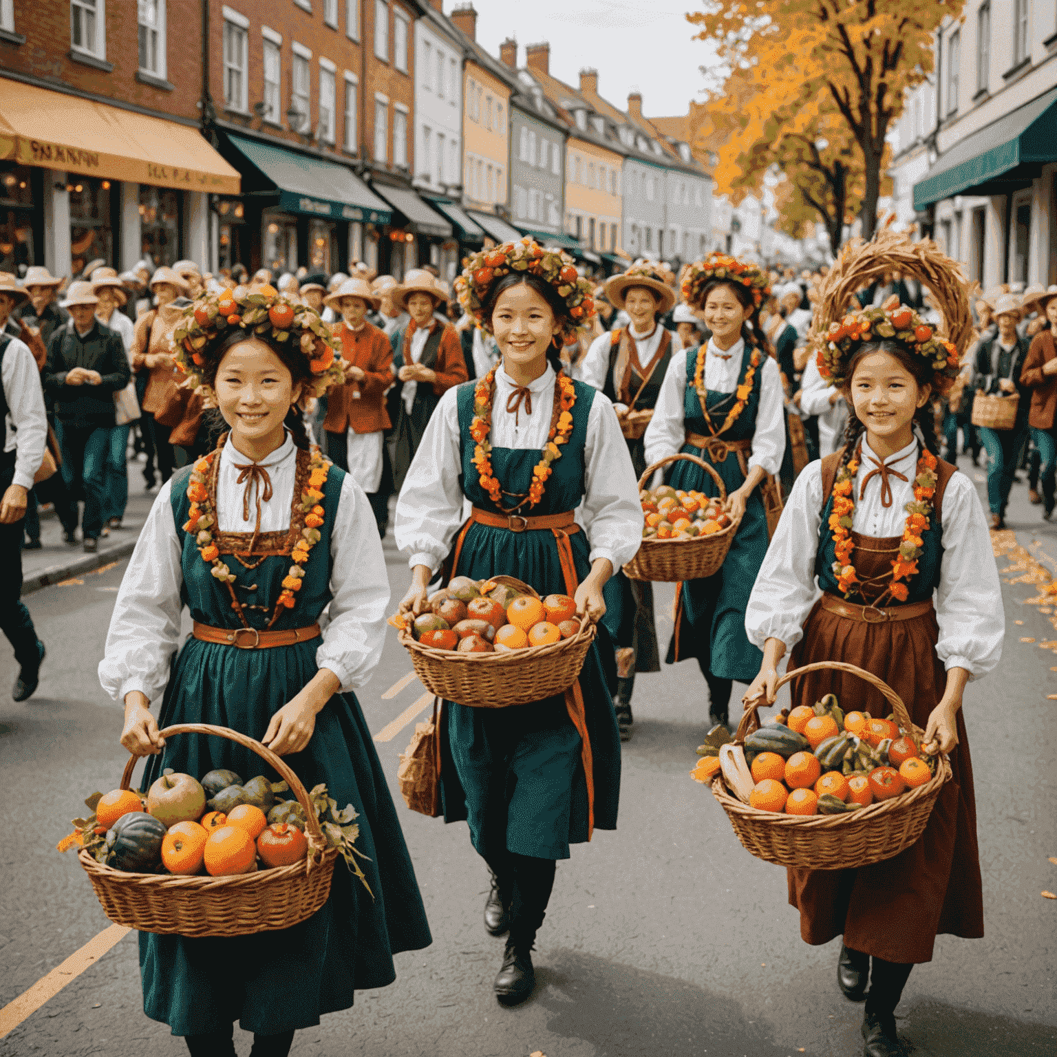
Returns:
[[[484,305],[492,284],[512,272],[530,272],[549,282],[565,302],[567,315],[560,320],[561,339],[572,345],[594,317],[594,285],[580,277],[569,254],[544,249],[530,236],[517,242],[504,242],[482,249],[465,260],[463,274],[456,279],[456,291],[463,311],[478,327],[490,333],[490,320],[484,318]]]

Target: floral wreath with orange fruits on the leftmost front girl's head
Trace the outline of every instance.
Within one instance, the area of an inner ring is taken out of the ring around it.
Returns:
[[[271,285],[236,286],[206,294],[184,309],[172,340],[177,366],[187,375],[186,388],[203,384],[201,368],[210,348],[235,328],[247,340],[261,337],[298,349],[309,363],[311,391],[316,396],[344,381],[334,355],[337,339],[316,312]]]

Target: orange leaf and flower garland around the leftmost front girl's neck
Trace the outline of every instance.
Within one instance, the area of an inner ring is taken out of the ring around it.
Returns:
[[[214,541],[212,531],[217,528],[217,517],[212,504],[209,501],[208,479],[212,472],[212,466],[218,453],[224,446],[227,434],[220,438],[217,447],[207,456],[203,456],[191,471],[190,482],[187,485],[187,498],[191,501],[190,509],[187,514],[187,521],[184,523],[184,532],[194,534],[194,544],[202,555],[202,560],[210,565],[210,574],[222,583],[227,585],[227,590],[231,594],[231,609],[239,614],[239,619],[244,627],[249,627],[246,620],[245,611],[242,604],[235,595],[234,583],[237,579],[235,574],[227,568],[227,563],[221,560],[220,549]],[[323,500],[322,486],[327,483],[327,475],[330,472],[331,463],[323,458],[318,448],[312,449],[309,461],[309,484],[301,493],[301,511],[304,513],[304,527],[301,530],[300,538],[294,543],[291,551],[291,558],[294,564],[290,567],[286,575],[282,578],[282,591],[276,599],[275,611],[268,622],[268,628],[273,627],[279,619],[283,609],[293,609],[297,602],[296,594],[301,590],[301,580],[304,577],[304,564],[309,560],[312,548],[322,538],[319,532],[323,523],[326,512],[321,505]]]

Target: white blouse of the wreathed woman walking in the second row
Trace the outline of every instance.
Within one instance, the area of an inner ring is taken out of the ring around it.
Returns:
[[[706,389],[718,393],[733,393],[738,388],[744,349],[745,342],[739,338],[725,353],[721,353],[712,339],[708,339],[704,377]],[[686,361],[690,355],[697,355],[697,350],[687,350],[685,356],[672,356],[668,364],[653,418],[643,438],[647,463],[655,463],[675,455],[686,442],[684,398]],[[724,359],[727,355],[730,358]],[[765,474],[777,474],[781,469],[782,456],[785,453],[783,395],[778,363],[771,356],[765,356],[760,365],[760,403],[756,410],[749,469],[759,466]]]

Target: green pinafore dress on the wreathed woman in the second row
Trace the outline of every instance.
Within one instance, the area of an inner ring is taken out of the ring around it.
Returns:
[[[738,375],[739,386],[744,384],[753,352],[753,347],[746,344]],[[701,433],[707,437],[712,429],[701,413],[701,401],[693,388],[697,353],[697,349],[686,353],[684,424],[687,433]],[[753,389],[745,407],[720,440],[752,440],[756,432],[756,413],[760,406],[762,384],[761,365],[761,369],[757,370],[753,379]],[[723,422],[736,398],[735,393],[708,392],[708,413],[713,425]],[[745,475],[742,472],[736,452],[726,452],[724,458],[720,459],[719,456],[716,458],[710,456],[707,449],[694,447],[692,444],[684,444],[680,450],[698,456],[709,463],[723,479],[728,495],[745,483]],[[711,476],[691,462],[672,463],[666,480],[673,488],[686,490],[692,488],[703,492],[706,496],[719,494]],[[745,516],[719,572],[704,579],[689,580],[680,585],[675,630],[666,657],[668,664],[697,657],[703,667],[719,679],[752,683],[760,670],[763,654],[749,643],[745,634],[745,610],[748,608],[748,596],[756,582],[756,575],[763,564],[763,556],[767,553],[767,516],[763,508],[763,500],[760,498],[760,489],[756,488],[748,497]]]

